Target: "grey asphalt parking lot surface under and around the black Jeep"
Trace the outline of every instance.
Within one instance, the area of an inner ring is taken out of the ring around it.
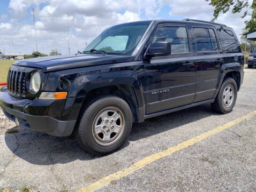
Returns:
[[[231,113],[202,105],[147,119],[134,124],[125,146],[107,156],[86,153],[70,137],[15,127],[0,115],[0,191],[76,191],[93,185],[96,191],[256,191],[256,115],[246,116],[256,110],[255,87],[256,69],[246,68]],[[216,134],[125,171],[222,125],[227,126]],[[5,132],[12,127],[18,132]],[[117,177],[121,170],[125,174]],[[95,184],[111,174],[107,185]]]

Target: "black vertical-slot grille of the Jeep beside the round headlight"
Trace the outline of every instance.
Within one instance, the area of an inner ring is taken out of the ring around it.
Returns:
[[[21,97],[26,93],[26,73],[16,70],[9,70],[7,76],[7,90],[12,95]]]

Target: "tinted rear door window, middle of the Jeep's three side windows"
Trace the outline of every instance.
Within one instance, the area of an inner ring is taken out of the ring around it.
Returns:
[[[193,28],[197,51],[212,51],[212,42],[207,28]]]

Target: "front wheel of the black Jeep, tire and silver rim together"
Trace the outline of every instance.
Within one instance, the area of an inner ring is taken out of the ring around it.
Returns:
[[[123,99],[115,96],[96,98],[82,111],[75,130],[76,139],[89,153],[109,154],[124,145],[132,129],[132,120],[131,109]]]

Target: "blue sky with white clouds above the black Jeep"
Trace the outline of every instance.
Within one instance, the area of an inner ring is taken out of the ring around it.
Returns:
[[[249,0],[251,4],[252,0]],[[34,10],[34,19],[33,19]],[[82,51],[104,29],[119,23],[184,18],[210,21],[214,7],[204,0],[0,0],[0,51],[49,54]],[[248,10],[251,12],[251,10]],[[215,21],[232,27],[238,38],[243,13]]]

